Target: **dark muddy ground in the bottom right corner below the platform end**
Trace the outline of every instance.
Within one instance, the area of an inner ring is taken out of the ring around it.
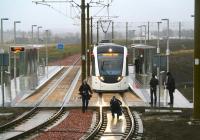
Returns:
[[[200,123],[191,125],[192,114],[143,113],[145,140],[200,140]]]

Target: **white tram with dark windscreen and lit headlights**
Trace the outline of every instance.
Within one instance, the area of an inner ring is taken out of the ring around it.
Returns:
[[[93,48],[92,88],[96,92],[128,89],[128,52],[125,46],[100,43]]]

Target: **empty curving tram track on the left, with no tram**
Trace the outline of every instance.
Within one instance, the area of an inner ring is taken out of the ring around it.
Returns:
[[[41,131],[46,126],[51,125],[57,119],[62,117],[66,113],[64,109],[64,104],[68,100],[67,94],[71,90],[71,85],[75,84],[75,80],[78,79],[80,68],[75,67],[76,63],[80,60],[77,59],[72,66],[70,66],[65,72],[61,74],[58,79],[52,79],[51,87],[43,94],[43,96],[38,100],[35,106],[20,116],[19,118],[0,126],[0,139],[21,139],[28,135],[32,135],[35,132]],[[72,74],[73,73],[73,74]],[[59,74],[58,74],[59,75]],[[71,81],[68,81],[67,88],[63,88],[66,82],[66,77],[70,77]],[[56,82],[55,82],[56,81]],[[49,82],[49,84],[51,81]],[[62,88],[61,88],[62,87]],[[42,89],[40,90],[40,92]],[[48,99],[49,96],[55,94],[55,92],[65,92],[65,96],[62,96],[62,103],[58,109],[45,109],[42,110],[39,106]],[[36,93],[35,93],[36,94]]]

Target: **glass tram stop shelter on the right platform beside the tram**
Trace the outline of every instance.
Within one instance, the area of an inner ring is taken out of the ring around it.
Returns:
[[[132,45],[133,64],[135,65],[135,77],[143,85],[149,83],[153,71],[153,60],[156,55],[156,47],[137,44]]]

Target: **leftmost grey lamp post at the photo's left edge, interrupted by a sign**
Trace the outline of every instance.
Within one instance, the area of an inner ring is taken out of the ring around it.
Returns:
[[[1,18],[1,45],[3,47],[3,21],[8,20],[8,18]],[[0,52],[4,52],[3,48]],[[1,92],[2,92],[2,106],[4,107],[4,81],[3,81],[3,66],[1,66]]]

